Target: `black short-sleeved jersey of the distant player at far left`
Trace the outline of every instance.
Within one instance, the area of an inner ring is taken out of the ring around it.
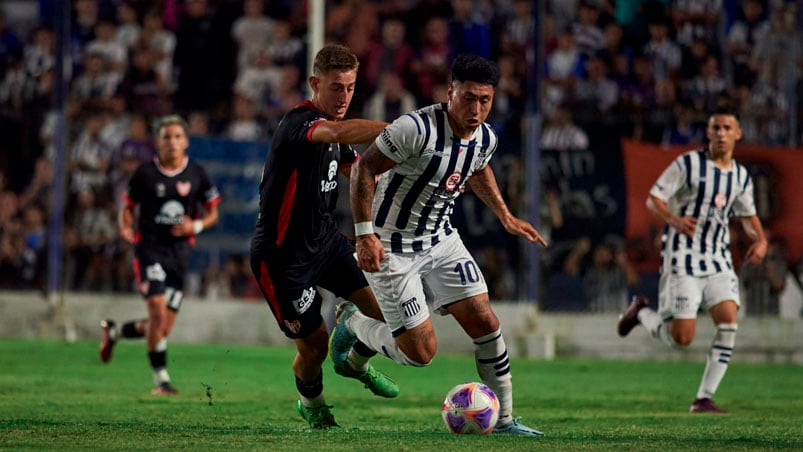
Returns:
[[[220,202],[206,170],[188,158],[176,170],[163,168],[157,160],[143,163],[131,176],[123,198],[131,207],[139,205],[137,243],[157,245],[188,240],[171,234],[173,225],[182,221],[182,215],[199,218],[199,207],[209,209]]]

